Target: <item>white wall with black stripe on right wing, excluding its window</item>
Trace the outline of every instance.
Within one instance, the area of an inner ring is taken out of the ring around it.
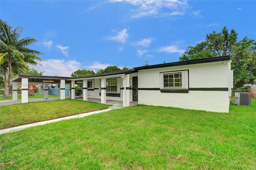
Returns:
[[[212,62],[138,71],[138,88],[160,88],[160,72],[189,70],[189,88],[229,88],[228,63]],[[229,111],[229,91],[192,91],[161,93],[160,90],[139,90],[138,103],[214,112]]]

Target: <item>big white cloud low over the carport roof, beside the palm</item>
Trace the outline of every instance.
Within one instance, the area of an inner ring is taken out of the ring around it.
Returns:
[[[47,59],[39,63],[41,65],[37,65],[36,68],[44,71],[43,75],[49,76],[70,77],[72,72],[81,69],[81,63],[76,60]]]

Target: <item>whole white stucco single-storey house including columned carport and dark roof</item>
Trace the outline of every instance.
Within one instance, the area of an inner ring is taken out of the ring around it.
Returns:
[[[130,101],[138,104],[170,106],[214,112],[229,111],[233,71],[230,56],[178,61],[136,67],[128,71],[103,73],[86,77],[17,75],[10,81],[22,83],[22,103],[28,102],[28,84],[60,84],[60,99],[65,99],[65,84],[70,84],[75,99],[75,84],[82,84],[83,100],[90,98]],[[13,100],[16,88],[13,86]],[[24,95],[23,95],[24,94]],[[48,98],[45,92],[45,98]]]

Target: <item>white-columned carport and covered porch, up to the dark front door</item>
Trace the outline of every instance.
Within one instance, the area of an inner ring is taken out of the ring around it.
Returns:
[[[85,77],[58,77],[37,75],[16,75],[10,82],[12,84],[12,103],[28,103],[32,101],[50,101],[56,99],[80,99],[108,104],[116,101],[122,107],[138,103],[138,73],[134,70],[102,73]],[[136,79],[134,79],[136,78]],[[18,85],[21,84],[22,99],[18,100]],[[44,99],[28,99],[30,85],[42,85]],[[48,98],[50,84],[60,85],[60,97]],[[69,84],[70,89],[65,89]],[[75,86],[81,86],[82,97],[75,96]],[[70,96],[65,96],[65,91],[70,91]],[[131,103],[134,102],[134,103]],[[9,102],[11,103],[11,102]],[[115,103],[115,104],[116,104]],[[4,105],[4,103],[1,103]]]

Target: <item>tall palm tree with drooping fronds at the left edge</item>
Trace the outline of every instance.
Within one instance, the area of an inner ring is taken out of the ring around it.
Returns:
[[[5,73],[8,73],[7,84],[4,88],[4,98],[9,98],[9,83],[12,74],[12,67],[17,70],[23,70],[28,68],[28,64],[37,65],[37,61],[42,61],[38,55],[43,53],[27,48],[28,45],[38,42],[36,39],[27,37],[21,40],[20,33],[22,33],[22,27],[17,27],[12,30],[12,26],[9,26],[5,21],[0,19],[0,65]],[[7,69],[8,63],[8,69]],[[22,73],[22,72],[21,72]]]

